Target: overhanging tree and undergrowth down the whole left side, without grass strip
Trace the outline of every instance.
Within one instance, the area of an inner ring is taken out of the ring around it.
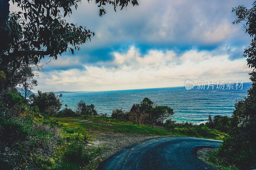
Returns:
[[[9,2],[22,11],[10,13]],[[80,169],[101,152],[100,148],[84,148],[88,143],[85,131],[60,126],[49,118],[77,115],[67,106],[60,111],[61,95],[38,91],[29,96],[37,85],[33,78],[42,70],[38,63],[44,56],[57,59],[67,50],[74,54],[74,49],[79,50],[94,35],[65,21],[80,2],[0,2],[0,169]],[[136,0],[95,2],[100,16],[106,13],[106,4],[113,5],[115,11],[118,6],[138,5]],[[25,97],[16,86],[24,88]],[[96,114],[93,105],[85,108],[80,114]]]

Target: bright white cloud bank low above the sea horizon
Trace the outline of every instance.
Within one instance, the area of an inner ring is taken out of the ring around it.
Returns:
[[[183,86],[186,79],[195,82],[249,81],[247,73],[251,69],[245,59],[231,61],[228,55],[214,55],[215,53],[192,49],[178,55],[174,51],[149,50],[143,55],[139,49],[131,47],[124,53],[114,52],[115,59],[107,64],[112,65],[111,67],[105,67],[105,63],[101,63],[101,66],[84,65],[85,70],[41,73],[37,89],[101,91]]]

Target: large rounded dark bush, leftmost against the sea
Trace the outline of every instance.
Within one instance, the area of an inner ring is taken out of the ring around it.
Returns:
[[[38,95],[32,94],[29,96],[31,107],[38,106],[39,111],[46,115],[55,115],[62,106],[60,100],[62,94],[55,95],[53,92],[38,91]]]

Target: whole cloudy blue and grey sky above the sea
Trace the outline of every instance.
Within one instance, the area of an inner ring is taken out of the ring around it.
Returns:
[[[41,60],[44,72],[33,90],[107,91],[184,86],[197,81],[249,82],[243,57],[250,37],[232,25],[232,7],[247,0],[138,0],[99,16],[98,6],[82,1],[66,20],[95,36],[81,50]],[[11,5],[12,10],[17,10]],[[50,61],[50,62],[49,62]]]

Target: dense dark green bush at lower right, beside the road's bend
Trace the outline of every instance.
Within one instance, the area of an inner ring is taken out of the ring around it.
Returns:
[[[236,103],[229,125],[223,123],[222,128],[230,129],[229,137],[209,157],[215,164],[239,169],[256,168],[256,73],[252,72],[250,75],[252,88],[248,90],[247,97]],[[217,120],[221,122],[221,119]]]

